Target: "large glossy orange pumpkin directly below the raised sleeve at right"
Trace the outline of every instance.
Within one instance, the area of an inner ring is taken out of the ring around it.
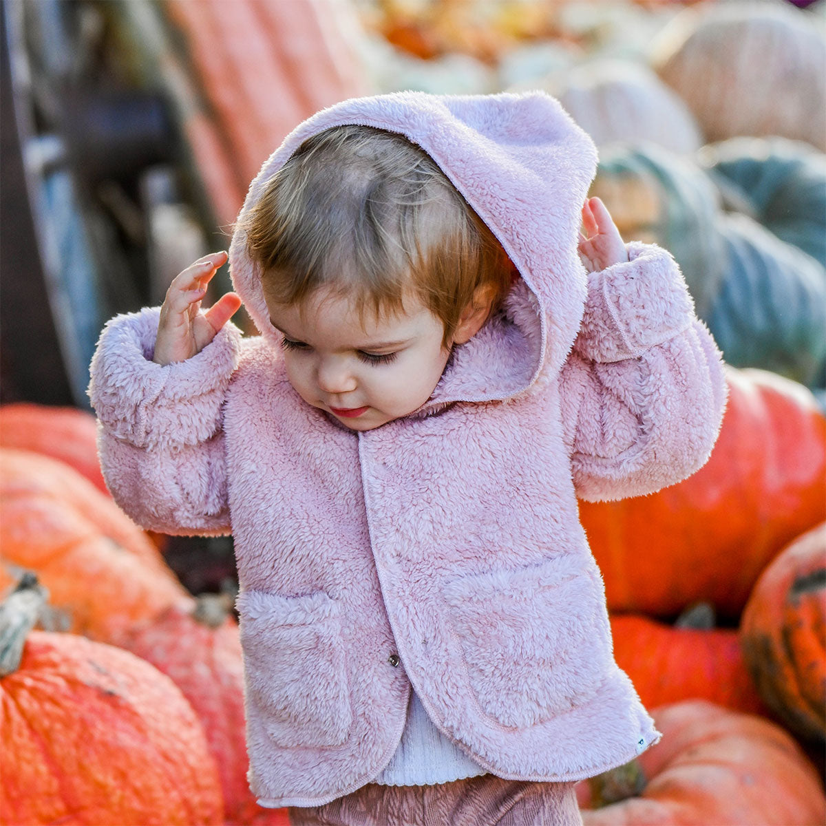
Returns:
[[[652,496],[580,503],[611,610],[671,617],[709,601],[737,621],[763,568],[826,519],[826,417],[812,393],[764,370],[727,377],[703,468]]]

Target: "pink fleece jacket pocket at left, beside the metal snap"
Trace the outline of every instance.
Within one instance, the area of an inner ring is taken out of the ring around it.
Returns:
[[[235,604],[250,724],[287,748],[344,743],[353,713],[338,603],[242,591]]]

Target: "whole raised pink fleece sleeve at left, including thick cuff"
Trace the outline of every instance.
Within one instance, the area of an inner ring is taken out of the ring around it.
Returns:
[[[159,308],[116,316],[90,367],[97,447],[115,501],[166,534],[226,534],[223,401],[240,356],[228,323],[185,362],[154,363]]]

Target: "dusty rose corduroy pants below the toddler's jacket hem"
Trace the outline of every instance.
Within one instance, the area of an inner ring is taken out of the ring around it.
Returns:
[[[582,826],[573,783],[492,775],[438,786],[379,786],[311,809],[289,809],[291,826]]]

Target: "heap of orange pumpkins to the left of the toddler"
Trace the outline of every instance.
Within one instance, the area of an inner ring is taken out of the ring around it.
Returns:
[[[74,408],[0,407],[0,590],[21,582],[30,608],[49,595],[12,623],[13,645],[0,628],[0,651],[22,653],[0,681],[0,821],[286,826],[246,781],[231,599],[189,594],[96,487],[95,432]],[[45,630],[26,637],[35,619]],[[53,787],[47,802],[31,794]]]

